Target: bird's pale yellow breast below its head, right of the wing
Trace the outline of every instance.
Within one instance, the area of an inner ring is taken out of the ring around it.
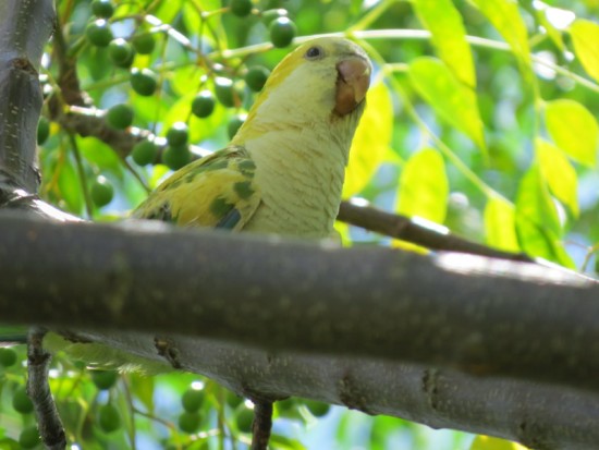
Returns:
[[[347,124],[333,122],[253,124],[268,132],[244,143],[262,197],[249,229],[303,238],[331,234],[353,137]]]

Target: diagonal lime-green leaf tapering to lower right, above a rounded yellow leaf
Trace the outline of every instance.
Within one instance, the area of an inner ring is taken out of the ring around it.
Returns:
[[[417,58],[408,69],[409,80],[430,106],[461,132],[486,150],[482,121],[476,93],[460,83],[447,65],[436,58]]]

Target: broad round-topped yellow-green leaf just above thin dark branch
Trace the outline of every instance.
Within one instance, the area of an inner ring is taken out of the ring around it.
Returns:
[[[433,148],[414,154],[401,174],[395,209],[443,223],[448,211],[449,182],[443,158]]]

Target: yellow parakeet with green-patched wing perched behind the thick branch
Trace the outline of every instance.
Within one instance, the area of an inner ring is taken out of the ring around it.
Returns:
[[[370,72],[365,51],[347,39],[301,45],[272,71],[231,143],[178,170],[132,216],[330,235]]]

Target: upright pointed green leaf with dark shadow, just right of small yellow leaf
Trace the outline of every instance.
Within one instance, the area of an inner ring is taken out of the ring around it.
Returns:
[[[538,166],[533,166],[519,183],[516,198],[516,230],[518,242],[527,254],[565,267],[574,267],[560,242],[562,226]]]

